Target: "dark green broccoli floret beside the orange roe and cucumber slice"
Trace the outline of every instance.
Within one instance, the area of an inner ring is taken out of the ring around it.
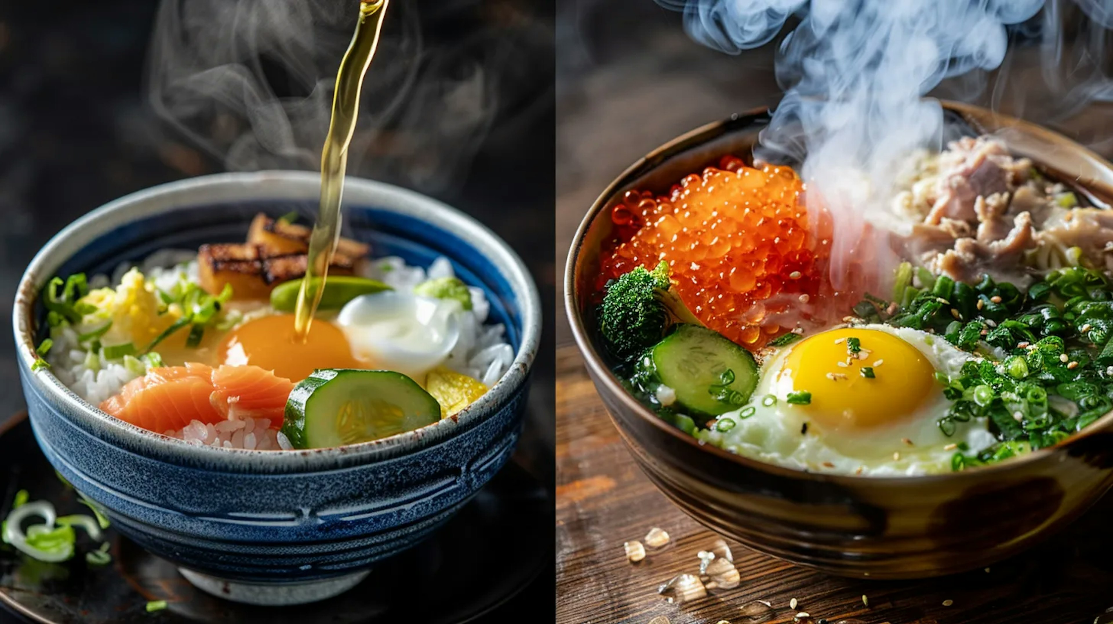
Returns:
[[[639,266],[608,284],[599,328],[611,354],[632,360],[674,323],[702,325],[669,285],[666,262],[652,271]]]

